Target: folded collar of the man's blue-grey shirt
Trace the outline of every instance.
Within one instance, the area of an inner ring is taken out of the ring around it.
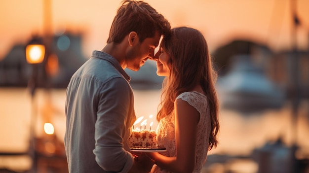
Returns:
[[[100,58],[110,62],[127,81],[131,80],[131,77],[121,68],[119,62],[112,55],[95,50],[92,52],[91,57]]]

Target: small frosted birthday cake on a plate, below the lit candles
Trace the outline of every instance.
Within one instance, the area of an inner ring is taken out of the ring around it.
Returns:
[[[128,143],[130,148],[156,148],[156,133],[152,130],[133,130]]]

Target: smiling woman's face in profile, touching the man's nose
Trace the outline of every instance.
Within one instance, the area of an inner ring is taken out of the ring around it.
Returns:
[[[169,55],[162,47],[160,47],[159,51],[154,56],[154,60],[156,61],[156,74],[158,76],[170,75],[170,69],[168,66],[169,59]]]

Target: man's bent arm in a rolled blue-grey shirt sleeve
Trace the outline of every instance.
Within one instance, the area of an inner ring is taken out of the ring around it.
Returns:
[[[130,106],[131,88],[121,77],[103,84],[95,123],[95,149],[98,165],[109,172],[126,173],[133,165],[133,157],[123,148],[123,138],[130,127],[126,127]]]

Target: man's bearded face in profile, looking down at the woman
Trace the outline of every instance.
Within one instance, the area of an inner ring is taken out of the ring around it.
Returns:
[[[138,42],[126,54],[127,68],[137,71],[148,58],[154,58],[154,49],[158,46],[161,35],[155,32],[154,37],[146,38],[143,42]]]

